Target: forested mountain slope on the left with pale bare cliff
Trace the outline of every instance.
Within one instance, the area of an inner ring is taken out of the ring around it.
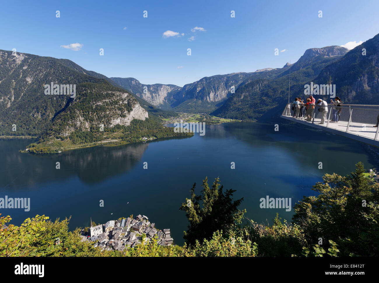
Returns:
[[[159,117],[172,112],[156,109],[117,86],[67,59],[1,50],[0,135],[37,136],[44,152],[51,151],[49,144],[58,151],[110,138],[136,142],[143,135],[183,135],[161,124]]]

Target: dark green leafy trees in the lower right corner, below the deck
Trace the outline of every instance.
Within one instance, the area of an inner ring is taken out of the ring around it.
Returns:
[[[312,188],[318,196],[294,205],[292,219],[304,230],[308,248],[322,238],[324,247],[337,243],[342,256],[379,255],[379,185],[370,185],[364,172],[359,162],[351,176],[325,174]]]

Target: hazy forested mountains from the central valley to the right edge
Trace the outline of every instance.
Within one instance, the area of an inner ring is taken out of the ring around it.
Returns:
[[[376,35],[353,50],[340,46],[309,48],[297,62],[282,68],[215,75],[183,87],[144,85],[135,78],[111,79],[161,109],[269,121],[273,116],[269,110],[288,102],[289,84],[291,101],[304,96],[304,85],[312,81],[335,84],[337,96],[345,103],[378,104],[378,42]],[[231,92],[233,86],[235,93]]]

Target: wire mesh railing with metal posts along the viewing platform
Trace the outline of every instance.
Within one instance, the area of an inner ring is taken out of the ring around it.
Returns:
[[[287,103],[282,116],[379,140],[379,105]]]

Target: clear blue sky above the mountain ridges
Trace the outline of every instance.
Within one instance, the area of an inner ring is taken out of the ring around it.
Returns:
[[[365,41],[379,33],[378,11],[377,0],[3,2],[0,49],[70,59],[108,77],[183,86],[281,68],[307,48]],[[165,37],[166,31],[178,34]],[[275,48],[285,51],[275,56]]]

